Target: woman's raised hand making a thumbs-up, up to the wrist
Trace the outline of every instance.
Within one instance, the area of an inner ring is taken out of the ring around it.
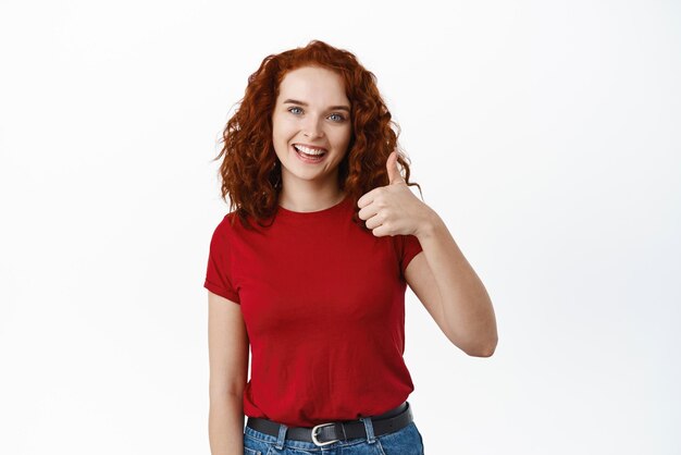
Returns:
[[[367,221],[373,235],[419,235],[430,222],[433,210],[411,193],[397,168],[397,152],[386,162],[389,184],[362,195],[357,201],[359,218]]]

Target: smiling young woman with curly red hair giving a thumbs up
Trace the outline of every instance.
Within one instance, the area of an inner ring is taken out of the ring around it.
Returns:
[[[423,454],[407,285],[456,346],[494,352],[487,293],[409,189],[394,127],[374,75],[322,41],[249,77],[216,158],[231,211],[205,282],[213,455]]]

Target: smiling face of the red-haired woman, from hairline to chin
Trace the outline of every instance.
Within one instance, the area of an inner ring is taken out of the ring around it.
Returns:
[[[278,90],[272,142],[284,190],[335,192],[351,135],[343,79],[331,70],[302,66],[288,72]]]

